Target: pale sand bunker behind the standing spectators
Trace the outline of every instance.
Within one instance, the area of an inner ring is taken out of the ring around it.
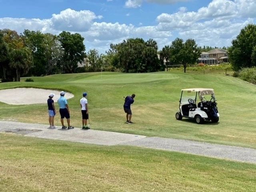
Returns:
[[[54,93],[53,100],[57,102],[60,97],[60,91],[50,89],[36,88],[15,88],[0,90],[0,102],[10,105],[28,105],[36,103],[47,103],[50,93]],[[72,93],[66,92],[65,98],[74,97]]]

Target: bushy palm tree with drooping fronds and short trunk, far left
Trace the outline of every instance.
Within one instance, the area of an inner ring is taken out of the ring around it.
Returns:
[[[26,75],[32,66],[32,53],[28,48],[13,49],[10,53],[10,67],[16,70],[16,81]]]

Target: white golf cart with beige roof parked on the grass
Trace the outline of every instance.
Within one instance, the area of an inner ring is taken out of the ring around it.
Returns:
[[[178,120],[185,117],[194,119],[198,124],[203,123],[204,120],[212,123],[219,121],[220,115],[213,89],[182,89],[179,109],[180,111],[176,113]]]

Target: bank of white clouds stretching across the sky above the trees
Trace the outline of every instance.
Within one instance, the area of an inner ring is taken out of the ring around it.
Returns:
[[[163,3],[167,0],[154,2]],[[191,12],[186,7],[180,7],[176,13],[162,13],[157,16],[156,25],[153,26],[142,26],[142,23],[134,26],[135,24],[100,22],[99,19],[103,20],[103,17],[89,10],[66,9],[44,20],[0,18],[0,29],[10,28],[18,33],[22,33],[24,29],[52,34],[59,34],[63,30],[78,32],[85,38],[86,51],[95,48],[100,53],[108,50],[110,43],[116,44],[127,38],[137,37],[144,40],[153,38],[158,42],[159,49],[170,45],[177,37],[184,40],[193,38],[199,46],[222,47],[230,46],[232,39],[236,38],[244,26],[255,23],[256,1],[212,0],[208,6]]]

